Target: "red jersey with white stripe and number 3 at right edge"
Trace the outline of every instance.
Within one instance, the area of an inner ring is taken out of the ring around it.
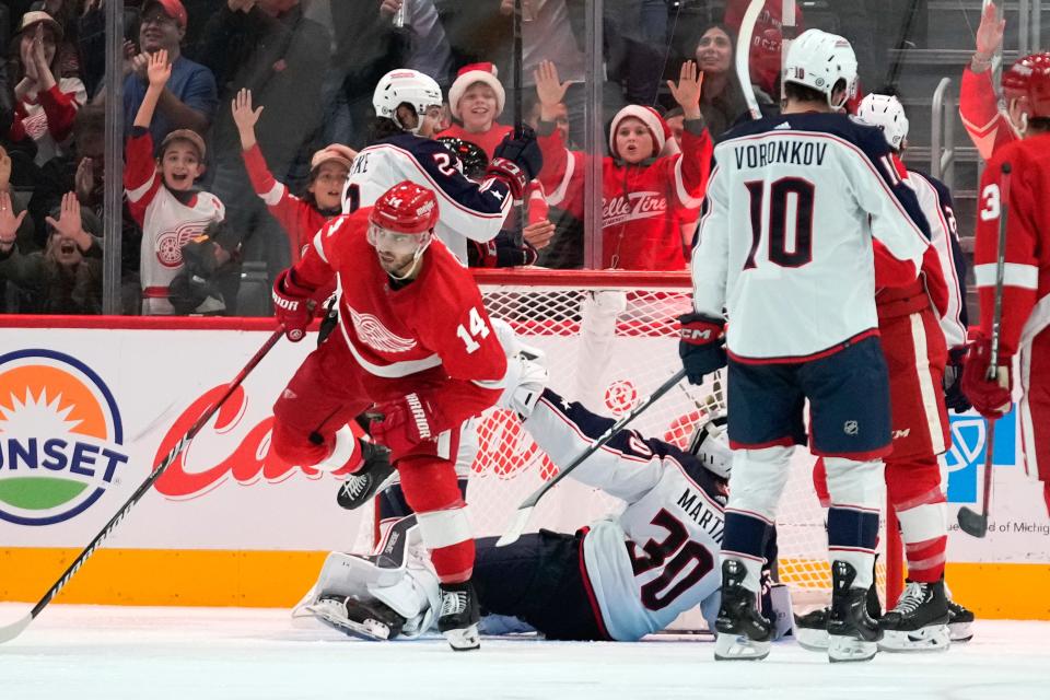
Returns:
[[[1003,278],[1001,352],[1013,355],[1050,326],[1050,133],[1030,136],[995,151],[981,175],[973,276],[981,299],[981,328],[991,334],[995,261],[1003,209],[1002,164],[1010,163],[1006,267]]]

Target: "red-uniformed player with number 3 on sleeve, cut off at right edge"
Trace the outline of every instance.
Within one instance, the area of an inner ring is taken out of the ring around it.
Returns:
[[[1022,140],[995,151],[981,176],[973,272],[980,293],[980,332],[970,347],[962,388],[989,420],[1013,402],[1014,357],[1025,471],[1042,481],[1050,511],[1050,52],[1032,54],[1003,73],[1003,93],[1019,113]],[[1003,175],[1003,165],[1011,174]],[[1007,185],[1008,183],[1008,185]],[[999,228],[1006,211],[1006,247],[999,328],[998,381],[991,362]]]

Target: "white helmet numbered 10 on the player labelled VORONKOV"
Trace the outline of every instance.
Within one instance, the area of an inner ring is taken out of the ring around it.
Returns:
[[[831,102],[839,81],[844,82],[845,96]],[[812,88],[824,93],[828,105],[839,109],[856,94],[856,55],[843,37],[820,30],[806,30],[791,43],[784,59],[783,82]]]

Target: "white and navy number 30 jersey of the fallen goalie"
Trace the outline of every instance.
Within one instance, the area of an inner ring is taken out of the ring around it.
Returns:
[[[548,389],[525,429],[565,466],[612,422]],[[725,491],[696,457],[623,430],[571,478],[627,503],[583,539],[585,574],[609,637],[633,641],[662,630],[719,590]]]

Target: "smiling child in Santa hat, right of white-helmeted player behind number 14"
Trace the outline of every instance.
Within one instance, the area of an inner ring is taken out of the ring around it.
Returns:
[[[464,66],[448,89],[448,108],[459,120],[439,137],[452,137],[477,143],[489,159],[514,129],[495,120],[503,113],[506,93],[492,63]]]

